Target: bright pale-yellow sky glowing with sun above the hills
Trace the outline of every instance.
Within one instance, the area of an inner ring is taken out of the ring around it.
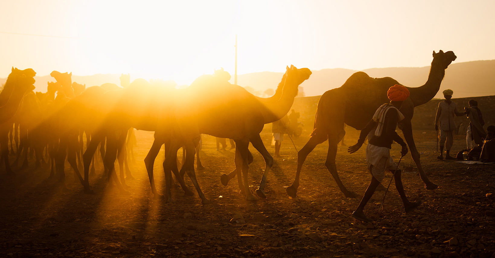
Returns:
[[[0,77],[12,66],[190,84],[234,74],[495,59],[494,0],[2,0]],[[43,36],[32,36],[43,35]],[[44,37],[52,36],[52,37]]]

